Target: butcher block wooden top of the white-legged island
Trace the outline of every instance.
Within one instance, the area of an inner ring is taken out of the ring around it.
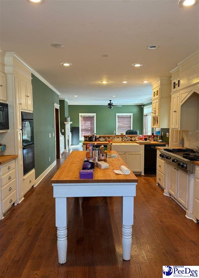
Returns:
[[[100,169],[95,166],[93,179],[80,179],[80,170],[84,159],[86,157],[86,151],[72,151],[71,154],[64,161],[57,173],[51,180],[51,183],[116,183],[116,182],[137,182],[137,177],[131,173],[129,175],[120,175],[113,172],[113,170],[119,170],[121,165],[127,164],[121,159],[116,151],[112,151],[112,154],[117,154],[118,158],[108,158],[108,169]]]

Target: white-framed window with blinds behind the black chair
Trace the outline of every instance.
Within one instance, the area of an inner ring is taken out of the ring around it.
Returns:
[[[133,127],[133,113],[116,113],[116,134],[126,133]]]

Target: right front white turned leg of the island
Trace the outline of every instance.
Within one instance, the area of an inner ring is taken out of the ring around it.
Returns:
[[[133,225],[133,196],[122,197],[122,249],[125,261],[131,258],[132,225]]]

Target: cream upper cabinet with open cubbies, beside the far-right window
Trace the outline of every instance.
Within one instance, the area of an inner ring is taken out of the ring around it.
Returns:
[[[158,78],[152,83],[152,127],[169,128],[171,79]]]

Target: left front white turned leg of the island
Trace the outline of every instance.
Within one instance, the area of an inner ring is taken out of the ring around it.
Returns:
[[[65,263],[67,256],[67,198],[55,198],[58,262]]]

